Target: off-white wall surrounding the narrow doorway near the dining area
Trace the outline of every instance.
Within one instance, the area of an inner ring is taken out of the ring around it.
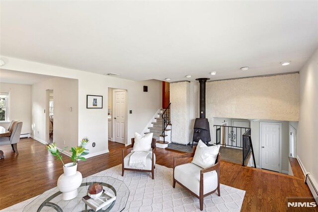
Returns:
[[[31,87],[32,97],[32,137],[43,143],[47,143],[46,130],[48,123],[46,118],[49,115],[47,109],[47,90],[53,90],[54,94],[54,124],[53,141],[61,149],[68,146],[76,146],[78,137],[78,112],[79,112],[79,86],[78,80],[67,78],[53,78]],[[72,111],[70,110],[72,107]],[[46,112],[44,113],[44,109]]]

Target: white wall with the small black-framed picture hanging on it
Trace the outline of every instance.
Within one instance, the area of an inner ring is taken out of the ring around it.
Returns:
[[[118,88],[127,90],[128,110],[128,137],[126,143],[129,144],[130,138],[135,132],[142,132],[155,112],[161,107],[162,83],[157,80],[131,81],[109,77],[100,74],[67,69],[63,67],[51,66],[16,58],[4,57],[7,63],[3,68],[7,70],[23,71],[36,74],[45,74],[57,77],[78,79],[79,83],[79,124],[78,138],[88,137],[96,146],[91,143],[87,146],[90,150],[89,156],[94,156],[108,152],[107,135],[107,106],[108,88]],[[105,70],[107,73],[107,70]],[[143,92],[143,86],[148,86],[148,92]],[[55,92],[54,92],[55,95]],[[102,109],[87,109],[86,95],[103,96]]]

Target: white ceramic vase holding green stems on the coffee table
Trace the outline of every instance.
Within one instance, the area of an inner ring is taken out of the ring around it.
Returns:
[[[72,200],[78,196],[82,176],[77,168],[78,164],[73,166],[73,163],[63,166],[64,174],[58,179],[58,188],[63,193],[63,200]]]

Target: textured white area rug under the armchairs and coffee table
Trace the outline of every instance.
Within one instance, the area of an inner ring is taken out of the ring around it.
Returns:
[[[110,176],[125,182],[130,190],[125,212],[200,212],[199,199],[178,184],[172,188],[171,168],[156,164],[155,180],[152,180],[151,174],[146,172],[125,171],[122,177],[121,165],[93,176]],[[221,197],[216,193],[205,197],[203,211],[239,212],[244,195],[243,190],[221,184]],[[3,209],[1,212],[22,212],[34,198]]]

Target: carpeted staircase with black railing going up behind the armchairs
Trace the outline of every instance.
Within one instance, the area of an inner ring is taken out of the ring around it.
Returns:
[[[166,119],[163,120],[163,117]],[[157,147],[168,147],[168,143],[171,142],[170,107],[164,110],[161,108],[151,125],[148,127],[149,132],[145,132],[145,134],[154,133],[153,138],[157,140]]]

